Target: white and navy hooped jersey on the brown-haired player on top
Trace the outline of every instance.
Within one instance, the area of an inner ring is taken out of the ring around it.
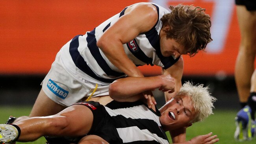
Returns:
[[[156,25],[150,31],[140,33],[132,41],[123,44],[123,47],[126,55],[136,66],[157,65],[166,69],[178,61],[178,58],[174,59],[172,56],[164,57],[160,51],[159,33],[162,25],[160,18],[170,12],[161,6],[153,5],[158,11]],[[61,48],[61,59],[65,68],[81,78],[99,84],[108,84],[117,78],[125,77],[126,75],[97,47],[96,42],[104,31],[124,15],[126,9],[127,7],[92,31],[88,31],[85,35],[77,35],[65,44]]]

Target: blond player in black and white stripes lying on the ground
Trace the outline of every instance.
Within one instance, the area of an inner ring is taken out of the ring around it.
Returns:
[[[114,100],[106,106],[92,101],[76,103],[52,116],[27,118],[13,125],[1,124],[0,142],[33,141],[48,135],[56,136],[50,144],[167,144],[165,131],[203,120],[212,113],[215,98],[210,96],[207,87],[187,82],[160,111],[154,105],[149,109],[141,92],[165,88],[164,77],[129,77],[115,81],[110,87]],[[135,79],[137,85],[134,85]],[[152,80],[154,83],[143,86]],[[123,86],[132,90],[123,91]],[[183,144],[213,144],[219,140],[216,137],[209,133]]]

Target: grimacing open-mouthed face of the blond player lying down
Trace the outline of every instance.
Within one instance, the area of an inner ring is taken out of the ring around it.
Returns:
[[[196,112],[189,96],[174,97],[174,100],[166,106],[167,109],[161,112],[160,116],[160,122],[165,131],[191,125]]]

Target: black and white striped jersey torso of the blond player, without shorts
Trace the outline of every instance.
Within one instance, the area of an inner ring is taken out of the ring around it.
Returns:
[[[112,101],[105,106],[117,137],[124,144],[169,144],[160,124],[160,112],[148,109],[142,102]],[[106,123],[107,124],[107,123]]]

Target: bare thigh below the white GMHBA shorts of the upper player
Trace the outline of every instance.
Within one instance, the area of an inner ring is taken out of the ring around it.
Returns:
[[[59,113],[65,108],[66,107],[63,105],[59,105],[58,103],[48,98],[43,89],[41,89],[29,117],[53,115]]]

